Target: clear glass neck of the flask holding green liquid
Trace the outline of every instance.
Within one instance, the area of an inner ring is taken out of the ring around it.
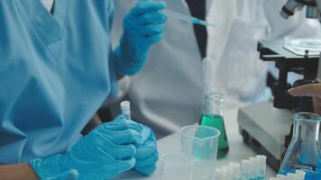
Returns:
[[[203,114],[223,116],[223,94],[207,94],[204,96]]]

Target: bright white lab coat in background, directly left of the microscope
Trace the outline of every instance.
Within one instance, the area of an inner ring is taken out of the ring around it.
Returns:
[[[277,76],[274,65],[262,62],[257,52],[259,40],[317,37],[317,21],[307,21],[305,12],[289,20],[280,17],[285,0],[213,0],[207,21],[216,23],[208,29],[207,54],[216,60],[216,91],[238,102],[266,100],[268,70]]]

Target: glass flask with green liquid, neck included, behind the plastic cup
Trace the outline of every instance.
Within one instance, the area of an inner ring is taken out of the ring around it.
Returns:
[[[203,115],[199,121],[200,125],[213,127],[221,131],[218,140],[217,158],[225,157],[228,153],[228,141],[223,118],[223,102],[223,94],[205,95]]]

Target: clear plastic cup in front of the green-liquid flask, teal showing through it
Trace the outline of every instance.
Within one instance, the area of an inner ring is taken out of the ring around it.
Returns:
[[[194,159],[193,180],[212,180],[216,166],[220,131],[207,126],[186,126],[181,130],[181,150]]]

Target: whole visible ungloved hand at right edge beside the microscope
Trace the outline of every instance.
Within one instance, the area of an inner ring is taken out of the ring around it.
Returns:
[[[321,115],[321,84],[302,85],[289,89],[293,96],[310,96],[313,99],[314,111]]]

